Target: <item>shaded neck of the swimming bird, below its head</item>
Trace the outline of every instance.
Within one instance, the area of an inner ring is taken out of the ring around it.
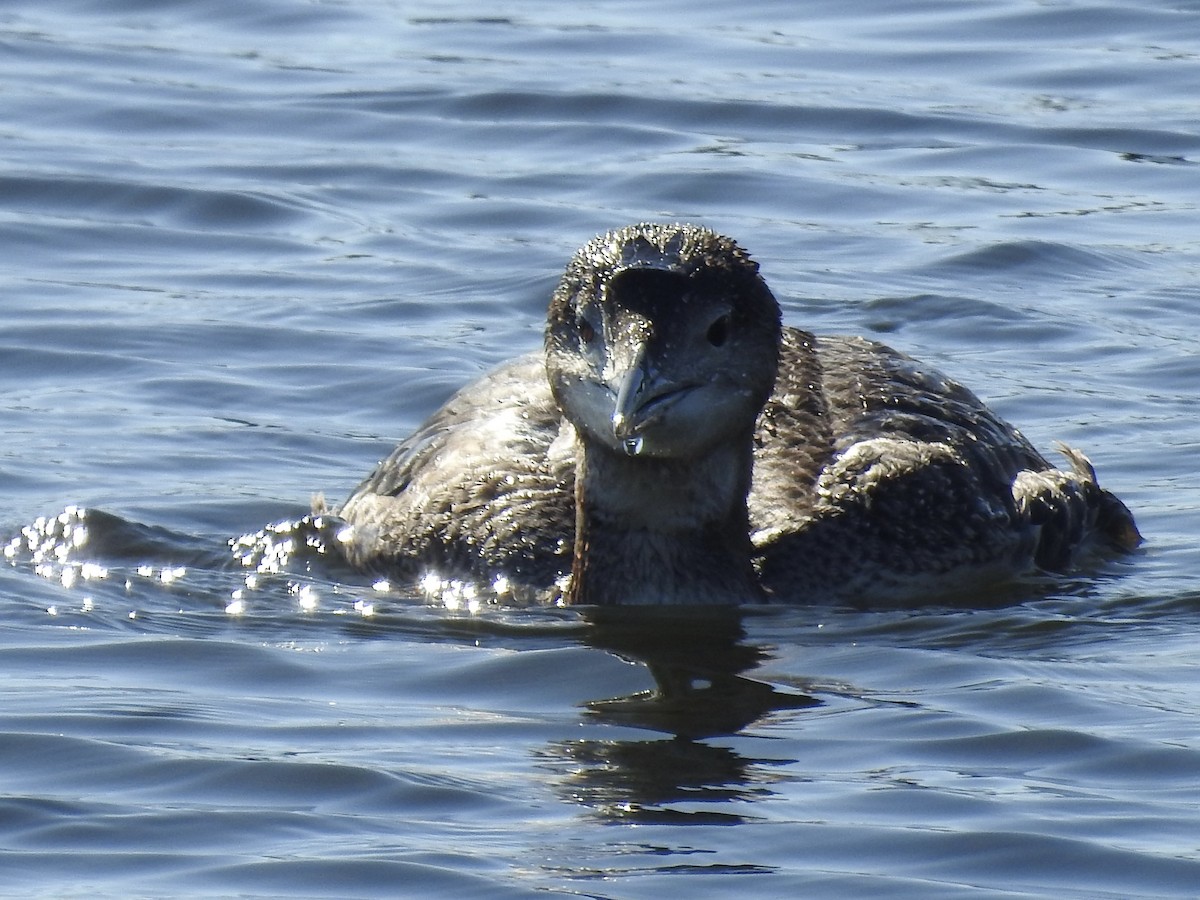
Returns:
[[[751,436],[703,460],[613,452],[580,437],[566,601],[731,605],[764,599],[751,563]]]

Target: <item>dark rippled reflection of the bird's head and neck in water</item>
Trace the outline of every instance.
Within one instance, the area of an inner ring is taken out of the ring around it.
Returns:
[[[644,739],[580,739],[545,749],[564,796],[623,821],[737,823],[739,800],[769,796],[773,770],[708,739],[734,736],[774,713],[820,701],[746,677],[767,658],[745,643],[742,613],[614,610],[589,613],[586,642],[640,662],[650,690],[584,704],[592,721],[655,732]]]

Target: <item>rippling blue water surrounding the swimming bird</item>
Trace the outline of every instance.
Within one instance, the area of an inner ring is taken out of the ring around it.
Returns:
[[[0,60],[0,894],[1200,895],[1200,6],[8,2]],[[1145,548],[695,628],[234,558],[638,220]]]

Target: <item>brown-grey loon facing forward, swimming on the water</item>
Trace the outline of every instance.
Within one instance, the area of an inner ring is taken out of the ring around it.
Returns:
[[[728,238],[638,224],[568,264],[544,352],[458,391],[336,512],[361,569],[568,604],[918,602],[1136,546],[1058,449],[883,344],[781,326]]]

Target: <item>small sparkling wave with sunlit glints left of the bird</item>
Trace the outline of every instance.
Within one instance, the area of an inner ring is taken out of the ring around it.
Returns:
[[[192,634],[239,623],[283,637],[294,636],[298,623],[344,629],[360,622],[422,640],[520,642],[581,626],[574,612],[529,608],[499,582],[364,574],[342,553],[347,539],[346,523],[330,515],[224,539],[67,506],[0,539],[0,552],[12,569],[56,584],[62,593],[40,594],[38,602],[59,624],[80,628]]]

